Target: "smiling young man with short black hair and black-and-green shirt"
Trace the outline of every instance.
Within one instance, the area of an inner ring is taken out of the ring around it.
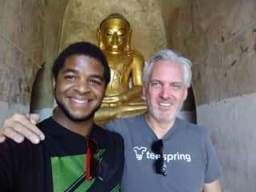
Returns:
[[[119,191],[123,142],[94,124],[110,81],[97,46],[78,42],[59,54],[52,68],[54,115],[38,124],[38,145],[0,144],[1,191]]]

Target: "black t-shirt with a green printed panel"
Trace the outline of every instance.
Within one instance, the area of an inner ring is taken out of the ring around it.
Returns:
[[[1,191],[106,191],[119,190],[123,142],[118,134],[94,125],[90,137],[100,148],[98,178],[86,181],[86,140],[48,118],[38,124],[46,139],[38,145],[10,139],[0,143]]]

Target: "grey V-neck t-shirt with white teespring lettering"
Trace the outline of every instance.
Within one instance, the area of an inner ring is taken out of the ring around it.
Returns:
[[[162,138],[166,177],[154,172],[158,156],[151,145],[157,137],[147,125],[145,114],[116,119],[104,127],[121,134],[124,140],[122,192],[201,192],[205,183],[220,178],[214,146],[199,126],[176,118],[172,129]]]

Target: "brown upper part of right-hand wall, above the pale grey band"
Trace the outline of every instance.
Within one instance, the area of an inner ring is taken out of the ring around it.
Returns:
[[[166,16],[170,47],[193,61],[198,104],[254,92],[255,7],[253,0],[187,1]]]

